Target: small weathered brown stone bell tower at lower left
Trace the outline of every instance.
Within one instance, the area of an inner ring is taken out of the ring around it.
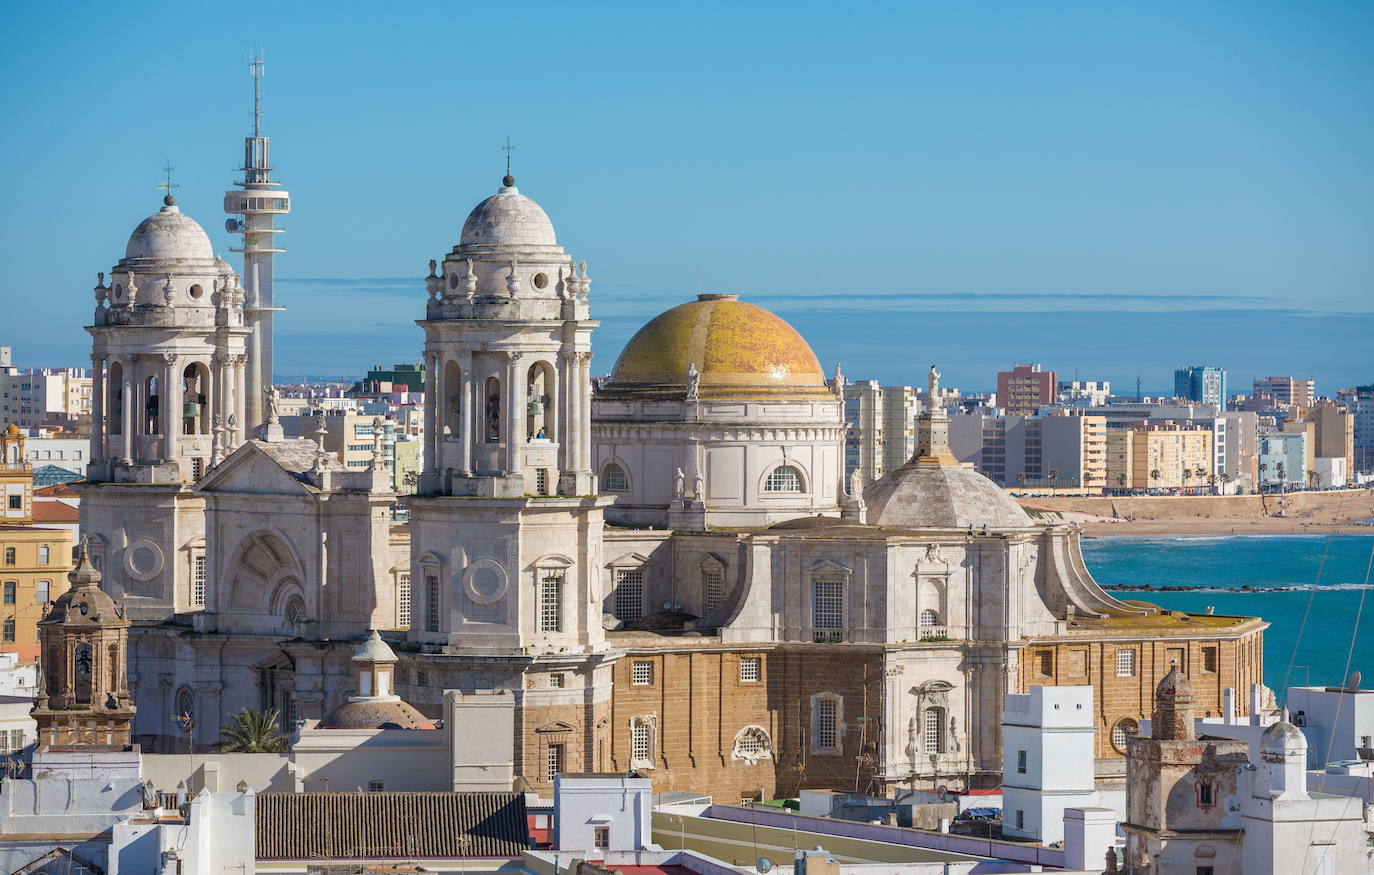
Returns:
[[[129,621],[100,589],[85,541],[71,588],[38,621],[38,747],[128,747],[133,699],[125,670]]]

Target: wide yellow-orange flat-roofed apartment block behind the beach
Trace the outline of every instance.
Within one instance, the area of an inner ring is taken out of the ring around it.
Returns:
[[[1107,486],[1180,489],[1208,486],[1210,429],[1186,423],[1134,422],[1106,434]]]

